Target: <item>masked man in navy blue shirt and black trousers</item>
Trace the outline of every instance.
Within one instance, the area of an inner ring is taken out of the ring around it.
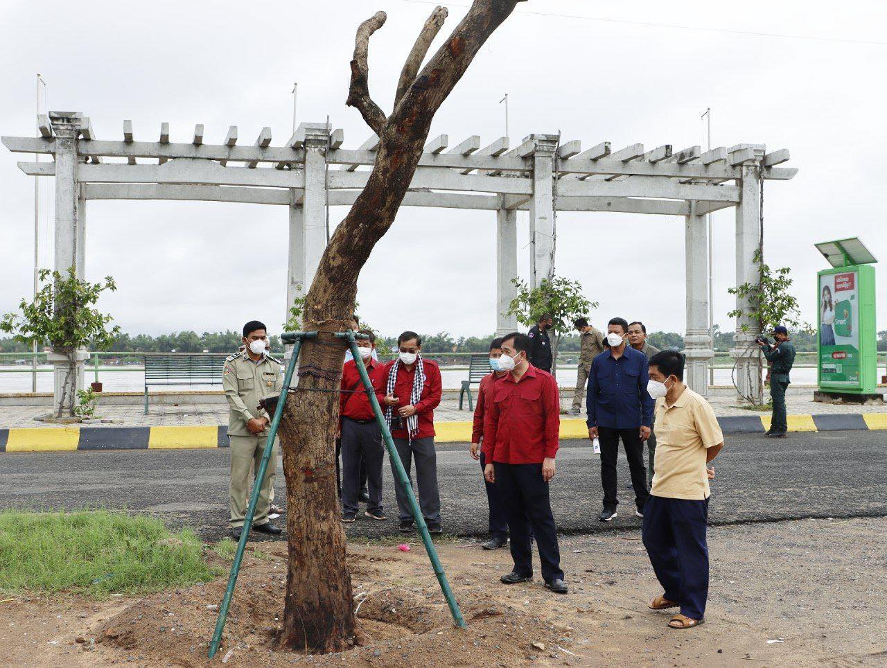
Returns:
[[[601,522],[616,517],[616,459],[619,439],[632,472],[635,515],[644,516],[649,497],[644,441],[650,437],[655,402],[647,391],[647,357],[626,345],[628,322],[613,318],[604,340],[608,350],[593,359],[588,373],[588,437],[600,439],[600,483],[604,488]]]

